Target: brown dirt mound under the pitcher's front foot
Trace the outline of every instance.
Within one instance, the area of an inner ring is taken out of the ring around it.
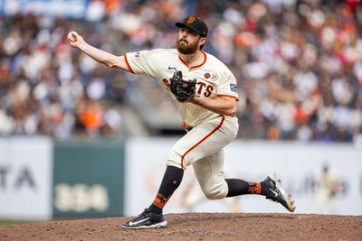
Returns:
[[[0,227],[0,240],[362,240],[362,216],[183,213],[168,227],[124,229],[129,218],[51,221]]]

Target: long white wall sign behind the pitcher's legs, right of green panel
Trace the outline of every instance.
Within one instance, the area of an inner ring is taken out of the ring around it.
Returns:
[[[166,169],[167,154],[176,141],[176,138],[135,138],[129,141],[126,215],[138,215],[155,199]],[[296,213],[362,214],[362,152],[353,144],[235,140],[224,148],[224,157],[228,178],[262,181],[268,174],[276,172],[283,187],[295,199]],[[328,175],[323,177],[325,168]],[[188,191],[190,187],[196,191]],[[188,197],[190,193],[195,197]],[[186,199],[195,200],[192,209],[186,206]],[[243,212],[288,212],[280,204],[258,195],[239,196],[237,203],[238,210]],[[205,199],[195,181],[192,166],[188,166],[181,185],[167,202],[164,212],[229,212],[232,208],[230,199]]]

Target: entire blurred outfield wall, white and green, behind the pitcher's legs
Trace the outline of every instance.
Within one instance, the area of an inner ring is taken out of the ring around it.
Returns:
[[[46,137],[0,138],[0,218],[136,216],[155,198],[176,140],[53,143]],[[297,213],[362,215],[362,150],[354,145],[236,140],[224,153],[229,177],[262,181],[276,171],[296,200]],[[326,164],[336,181],[336,195],[331,202],[319,202],[317,181]],[[165,212],[190,211],[190,197],[199,199],[191,211],[230,211],[228,201],[188,196],[189,190],[202,193],[191,166]],[[238,197],[237,204],[243,212],[286,212],[261,196]]]

